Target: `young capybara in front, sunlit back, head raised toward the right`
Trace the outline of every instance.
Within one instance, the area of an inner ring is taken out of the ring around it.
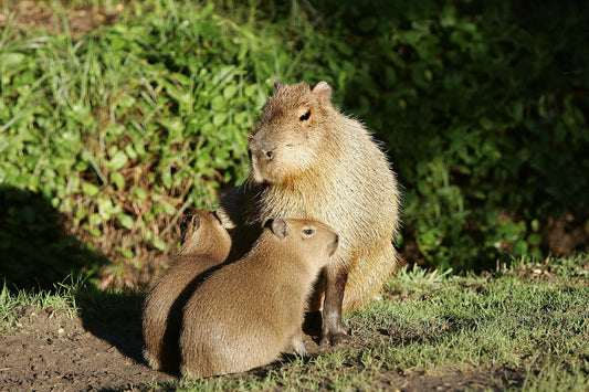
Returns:
[[[267,364],[293,348],[305,353],[302,324],[337,234],[306,220],[271,220],[251,251],[223,265],[183,309],[180,373],[235,373]]]

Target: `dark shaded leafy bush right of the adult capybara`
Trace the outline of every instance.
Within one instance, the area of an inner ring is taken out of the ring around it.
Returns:
[[[335,13],[325,32],[339,34],[323,41],[320,60],[344,106],[386,142],[406,187],[404,235],[427,261],[460,269],[541,256],[549,216],[589,222],[578,4],[372,1],[323,11]]]

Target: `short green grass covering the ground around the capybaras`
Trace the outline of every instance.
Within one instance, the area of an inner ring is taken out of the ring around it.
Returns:
[[[70,279],[54,293],[0,294],[0,330],[35,306],[83,318],[130,315],[138,322],[141,295],[103,293]],[[514,261],[480,275],[402,269],[379,300],[346,317],[351,348],[314,358],[291,358],[246,374],[150,383],[149,390],[366,390],[386,389],[383,378],[403,374],[467,374],[499,369],[514,390],[581,391],[589,388],[589,256]],[[126,309],[122,311],[122,309]],[[95,315],[93,315],[95,314]],[[108,317],[106,317],[108,318]],[[488,385],[491,386],[491,385]]]

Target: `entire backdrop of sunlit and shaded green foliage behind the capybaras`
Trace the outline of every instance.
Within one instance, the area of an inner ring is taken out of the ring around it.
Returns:
[[[274,77],[327,81],[382,141],[408,262],[482,271],[587,248],[581,1],[2,7],[0,277],[19,287],[72,271],[146,285],[181,214],[245,177]]]

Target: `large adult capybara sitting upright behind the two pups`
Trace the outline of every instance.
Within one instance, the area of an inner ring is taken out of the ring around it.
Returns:
[[[313,88],[276,84],[250,137],[250,177],[223,197],[218,213],[227,226],[249,231],[271,216],[334,227],[338,252],[309,310],[323,305],[322,342],[337,343],[347,333],[341,311],[372,300],[399,267],[392,241],[400,200],[387,157],[359,120],[333,106],[330,95],[325,82]]]

